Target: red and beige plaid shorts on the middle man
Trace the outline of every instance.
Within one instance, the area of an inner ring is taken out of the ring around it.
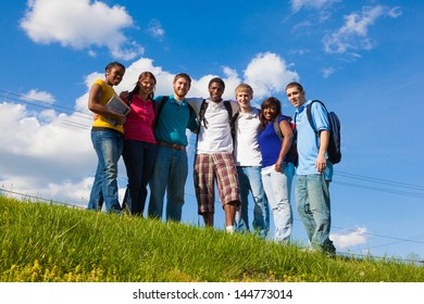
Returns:
[[[198,154],[195,161],[195,189],[198,213],[214,213],[216,180],[222,206],[240,202],[237,168],[230,153]]]

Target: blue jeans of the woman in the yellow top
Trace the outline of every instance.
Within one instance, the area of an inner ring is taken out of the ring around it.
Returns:
[[[92,130],[91,142],[97,153],[98,164],[87,208],[101,210],[104,200],[107,212],[121,213],[116,177],[124,136],[112,129]]]

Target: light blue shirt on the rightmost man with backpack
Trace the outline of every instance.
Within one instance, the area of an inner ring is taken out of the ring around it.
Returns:
[[[297,147],[299,153],[299,165],[296,174],[310,175],[320,174],[315,168],[315,161],[320,150],[320,139],[311,128],[308,121],[307,106],[312,100],[307,101],[300,109],[296,111],[296,129],[297,129]],[[325,109],[314,102],[311,107],[312,123],[319,130],[329,130],[328,114]],[[327,162],[328,170],[325,173],[326,179],[332,179],[333,166]]]

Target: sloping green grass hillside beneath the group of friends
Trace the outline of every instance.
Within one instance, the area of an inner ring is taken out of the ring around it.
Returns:
[[[424,268],[327,257],[251,235],[0,197],[0,281],[412,282]]]

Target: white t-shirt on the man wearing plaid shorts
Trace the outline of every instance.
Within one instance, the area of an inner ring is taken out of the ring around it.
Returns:
[[[195,111],[199,113],[202,99],[190,99],[189,103]],[[197,143],[197,154],[213,154],[213,153],[233,153],[233,137],[229,127],[228,111],[224,105],[224,101],[213,102],[209,99],[204,119],[200,123],[199,139]],[[230,101],[233,115],[239,111],[238,103]]]

